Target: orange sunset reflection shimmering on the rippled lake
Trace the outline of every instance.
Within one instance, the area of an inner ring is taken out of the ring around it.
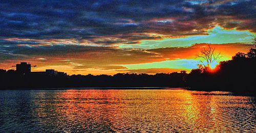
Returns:
[[[245,119],[255,124],[253,100],[227,92],[65,90],[47,97],[41,107],[48,109],[38,114],[63,131],[222,132],[248,130],[241,127]]]

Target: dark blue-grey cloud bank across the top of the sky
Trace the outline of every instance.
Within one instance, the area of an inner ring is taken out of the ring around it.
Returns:
[[[155,32],[182,34],[220,25],[255,31],[255,1],[1,1],[0,36],[22,38],[91,38]],[[173,18],[158,23],[153,19]],[[225,23],[224,23],[225,22]],[[189,25],[190,24],[190,25]]]

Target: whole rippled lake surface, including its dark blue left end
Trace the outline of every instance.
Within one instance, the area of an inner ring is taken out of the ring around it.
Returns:
[[[255,132],[255,104],[228,92],[0,91],[0,132]]]

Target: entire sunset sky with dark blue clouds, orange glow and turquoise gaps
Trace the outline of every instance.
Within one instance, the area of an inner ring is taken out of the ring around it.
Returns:
[[[0,69],[68,74],[196,69],[207,45],[229,60],[256,35],[256,1],[0,1]],[[217,63],[218,63],[217,62]]]

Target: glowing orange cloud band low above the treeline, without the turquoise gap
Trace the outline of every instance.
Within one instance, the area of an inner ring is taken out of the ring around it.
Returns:
[[[84,49],[73,51],[67,49],[67,52],[55,51],[55,53],[34,53],[25,55],[15,59],[6,59],[1,62],[2,69],[11,69],[12,65],[20,61],[27,61],[37,68],[35,71],[42,71],[44,69],[56,69],[57,71],[64,71],[68,74],[115,74],[118,72],[136,72],[136,73],[161,73],[180,71],[168,69],[149,68],[147,70],[129,70],[124,68],[122,64],[143,64],[149,62],[158,62],[173,59],[195,59],[196,54],[200,49],[207,46],[208,43],[198,43],[190,47],[174,47],[174,48],[160,48],[160,49],[118,49],[115,47],[105,48],[97,47],[91,49]],[[226,44],[210,44],[216,48],[216,51],[221,52],[224,59],[231,59],[237,52],[246,52],[248,47],[245,43],[226,43]],[[51,49],[49,47],[49,49]],[[54,52],[54,50],[52,51]],[[22,53],[25,54],[25,53]],[[13,68],[14,69],[14,68]]]

